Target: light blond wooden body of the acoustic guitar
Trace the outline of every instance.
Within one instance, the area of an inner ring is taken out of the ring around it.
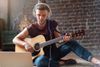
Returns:
[[[39,36],[36,36],[34,38],[26,38],[25,41],[27,43],[29,43],[33,47],[33,49],[34,49],[34,45],[36,43],[41,44],[43,42],[46,42],[45,37],[43,35],[39,35]],[[25,50],[24,47],[22,47],[20,45],[16,45],[15,46],[15,52],[26,52],[26,50]],[[43,54],[44,54],[43,49],[40,48],[40,52],[36,56],[33,56],[32,59],[36,58],[37,56],[43,55]]]

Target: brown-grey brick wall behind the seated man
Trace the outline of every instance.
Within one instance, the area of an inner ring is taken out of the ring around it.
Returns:
[[[100,49],[99,0],[46,0],[46,2],[53,12],[51,18],[59,23],[61,32],[84,29],[85,36],[78,41],[90,50],[95,49],[92,52]],[[28,9],[26,13],[31,14],[32,2],[29,6],[26,5],[25,10]]]

